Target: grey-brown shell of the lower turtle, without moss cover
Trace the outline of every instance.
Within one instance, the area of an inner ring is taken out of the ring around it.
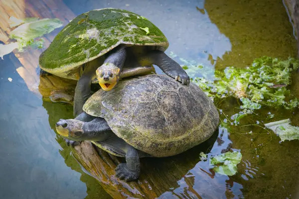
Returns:
[[[155,157],[179,154],[207,140],[216,130],[214,103],[195,84],[184,86],[165,75],[146,75],[97,91],[84,104],[112,131]]]

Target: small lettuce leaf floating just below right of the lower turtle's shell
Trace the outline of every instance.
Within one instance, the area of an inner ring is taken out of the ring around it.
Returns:
[[[226,152],[210,159],[213,170],[219,174],[233,176],[237,173],[237,164],[241,162],[242,154],[238,151]]]

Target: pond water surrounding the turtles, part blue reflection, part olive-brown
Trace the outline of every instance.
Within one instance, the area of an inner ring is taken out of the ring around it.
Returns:
[[[30,16],[32,12],[28,10],[34,6],[42,10],[44,17],[65,13],[76,16],[103,7],[128,9],[147,17],[162,30],[170,43],[167,54],[173,52],[211,68],[245,67],[259,56],[287,58],[297,54],[293,28],[281,0],[54,0],[57,6],[49,2],[40,6],[42,1],[38,4],[31,0],[19,7],[27,9],[25,17]],[[0,5],[5,7],[7,3],[1,1]],[[47,38],[53,39],[60,29]],[[41,51],[29,52],[33,56]],[[23,61],[26,58],[27,54],[10,53],[0,60],[0,198],[111,198],[81,170],[70,155],[70,148],[53,130],[59,118],[72,117],[72,106],[42,101],[30,92],[28,80],[25,83],[19,75],[23,73],[16,71],[22,66],[20,61],[28,63]],[[34,56],[29,60],[36,66],[36,58],[33,59]],[[178,58],[176,61],[182,64]],[[292,92],[299,97],[298,82],[295,77]],[[238,107],[235,100],[219,105],[228,115],[238,112],[235,107]],[[269,111],[275,118],[266,118]],[[242,122],[266,123],[285,118],[299,126],[298,110],[271,108],[264,108],[258,116]],[[258,126],[244,127],[242,131],[220,129],[219,135],[206,144],[215,155],[230,148],[241,150],[242,162],[232,177],[213,174],[208,162],[199,160],[200,147],[157,162],[142,160],[152,175],[159,169],[166,170],[163,165],[169,166],[168,162],[174,165],[167,168],[169,171],[181,169],[183,177],[170,182],[160,198],[296,198],[299,141],[280,144],[279,137]],[[253,133],[246,134],[250,131]]]

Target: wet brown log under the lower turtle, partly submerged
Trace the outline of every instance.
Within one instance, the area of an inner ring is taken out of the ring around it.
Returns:
[[[207,184],[214,187],[209,191],[211,198],[217,196],[219,185],[215,181],[213,171],[205,171],[192,174],[192,170],[199,161],[199,156],[194,158],[200,151],[206,153],[216,141],[218,132],[206,142],[196,146],[182,154],[167,158],[141,158],[141,176],[136,182],[125,182],[115,175],[115,168],[124,158],[113,156],[102,149],[95,147],[89,141],[83,141],[75,146],[73,156],[84,167],[86,172],[97,179],[105,191],[114,199],[168,199],[180,198],[176,196],[175,188],[180,189],[180,181],[183,181],[184,197],[196,196],[200,199],[198,191],[193,189],[194,177],[202,178]],[[191,178],[190,178],[191,177]]]

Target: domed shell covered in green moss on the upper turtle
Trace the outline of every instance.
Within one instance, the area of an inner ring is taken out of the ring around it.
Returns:
[[[142,28],[149,28],[149,33]],[[120,44],[152,46],[165,51],[168,41],[148,19],[133,12],[104,8],[75,17],[40,55],[40,68],[78,80],[81,65],[101,57]]]

